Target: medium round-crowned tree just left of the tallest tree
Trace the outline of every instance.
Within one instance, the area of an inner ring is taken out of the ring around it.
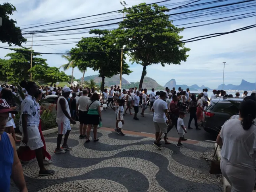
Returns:
[[[99,35],[99,37],[82,38],[77,44],[77,48],[72,48],[73,53],[82,52],[105,52],[119,49],[115,41],[110,39],[109,31],[94,29],[90,34]],[[100,35],[105,35],[101,36]],[[101,54],[79,54],[72,55],[77,61],[79,68],[89,67],[94,71],[99,71],[99,77],[102,77],[101,91],[104,90],[105,78],[112,77],[120,73],[121,52],[109,52]],[[123,56],[123,74],[129,75],[132,71],[129,70],[129,65],[125,63],[125,56]]]

